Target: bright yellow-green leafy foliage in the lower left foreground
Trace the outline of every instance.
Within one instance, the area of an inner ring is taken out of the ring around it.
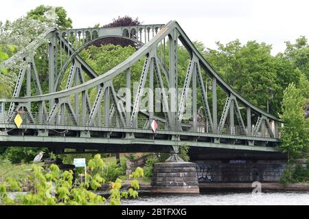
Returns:
[[[139,182],[137,178],[144,176],[143,169],[137,168],[133,172],[134,178],[131,188],[122,190],[122,181],[117,178],[111,182],[110,196],[106,198],[89,191],[98,189],[104,178],[101,176],[104,167],[104,161],[100,154],[96,154],[89,161],[89,178],[87,183],[80,183],[79,186],[73,186],[73,172],[62,171],[57,165],[50,165],[44,170],[41,166],[32,165],[32,170],[24,172],[27,178],[27,187],[30,191],[27,194],[17,195],[16,198],[8,198],[8,191],[21,191],[21,178],[5,178],[0,183],[0,205],[101,205],[109,203],[110,205],[120,205],[121,198],[136,198],[138,196]]]

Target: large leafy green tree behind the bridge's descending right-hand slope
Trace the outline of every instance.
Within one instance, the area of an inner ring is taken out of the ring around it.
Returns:
[[[217,43],[218,49],[207,49],[205,58],[218,74],[249,102],[277,114],[283,91],[289,83],[299,82],[299,71],[280,56],[271,55],[271,45],[239,40],[227,45]],[[219,96],[224,98],[225,96]]]

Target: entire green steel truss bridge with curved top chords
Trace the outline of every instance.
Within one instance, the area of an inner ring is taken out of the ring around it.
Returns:
[[[126,39],[138,49],[113,69],[98,73],[80,52],[106,38]],[[183,81],[179,44],[189,54]],[[43,93],[36,50],[46,45],[49,91]],[[140,61],[144,65],[139,80],[131,80],[131,71]],[[12,97],[0,97],[0,146],[45,147],[56,153],[65,148],[76,153],[177,152],[184,145],[277,152],[279,117],[254,106],[222,80],[176,21],[71,30],[52,27],[5,60],[3,67],[17,64],[20,71]],[[119,94],[119,78],[125,79],[125,95]],[[146,86],[153,93],[146,97],[147,106],[141,106]],[[226,94],[223,108],[218,107],[219,89]]]

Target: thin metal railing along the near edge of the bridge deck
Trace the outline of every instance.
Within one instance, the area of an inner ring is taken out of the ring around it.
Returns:
[[[8,111],[0,112],[0,128],[12,128],[15,126],[14,118],[16,117],[17,112],[10,115]],[[89,117],[79,116],[78,119],[69,113],[58,114],[52,118],[49,118],[48,113],[29,113],[27,111],[19,112],[21,118],[23,119],[21,128],[32,128],[38,126],[44,126],[44,128],[59,128],[59,129],[70,129],[74,126],[85,127],[86,129],[91,130],[91,128],[130,128],[126,127],[120,122],[120,119],[117,115],[113,115],[108,121],[108,124],[105,124],[104,116],[95,117],[93,120],[89,120]],[[152,130],[151,122],[148,118],[138,118],[136,129],[139,130]],[[279,133],[275,135],[275,130],[270,128],[260,127],[258,130],[255,130],[254,126],[251,128],[251,132],[248,132],[247,127],[242,126],[228,126],[225,125],[222,127],[220,133],[214,132],[211,129],[211,126],[207,123],[199,122],[197,126],[194,126],[192,121],[183,121],[181,123],[181,128],[175,130],[168,123],[156,120],[158,124],[159,131],[182,131],[182,132],[201,132],[209,134],[220,134],[220,135],[240,135],[240,136],[250,136],[250,137],[265,137],[265,138],[278,138]]]

